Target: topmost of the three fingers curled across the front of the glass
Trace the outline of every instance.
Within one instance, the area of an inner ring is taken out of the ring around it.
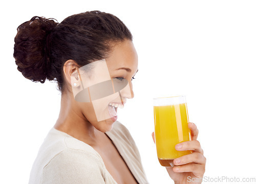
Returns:
[[[194,141],[185,141],[182,143],[179,143],[175,145],[175,149],[177,151],[186,151],[186,150],[193,150],[196,152],[199,152],[201,154],[204,154],[203,149],[201,148],[201,145],[199,141],[194,140]]]

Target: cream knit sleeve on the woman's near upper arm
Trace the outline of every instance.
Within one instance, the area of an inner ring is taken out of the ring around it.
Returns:
[[[105,183],[102,164],[100,158],[93,153],[68,148],[44,167],[40,183]]]

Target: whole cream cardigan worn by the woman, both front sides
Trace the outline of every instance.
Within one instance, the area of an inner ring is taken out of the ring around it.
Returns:
[[[119,122],[106,132],[138,183],[148,183],[138,148],[129,131]],[[106,170],[98,152],[69,134],[52,128],[42,143],[30,173],[37,183],[117,183]]]

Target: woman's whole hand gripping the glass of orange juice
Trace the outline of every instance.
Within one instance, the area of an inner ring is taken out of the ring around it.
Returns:
[[[181,156],[174,160],[175,167],[166,167],[169,176],[175,183],[190,183],[198,184],[202,182],[205,172],[206,158],[203,155],[203,150],[197,141],[198,129],[194,123],[188,123],[188,128],[191,130],[191,140],[182,142],[175,146],[178,151],[194,150],[193,153]],[[155,142],[155,133],[152,133]],[[179,148],[179,146],[181,146]],[[200,179],[201,178],[201,179]],[[190,182],[188,182],[190,181]]]

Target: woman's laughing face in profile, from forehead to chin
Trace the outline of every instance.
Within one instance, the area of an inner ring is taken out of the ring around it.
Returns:
[[[133,98],[132,78],[138,71],[138,56],[133,42],[125,40],[113,47],[108,58],[79,68],[71,78],[73,95],[84,117],[99,131],[112,129],[117,109]],[[80,80],[80,82],[79,82]]]

